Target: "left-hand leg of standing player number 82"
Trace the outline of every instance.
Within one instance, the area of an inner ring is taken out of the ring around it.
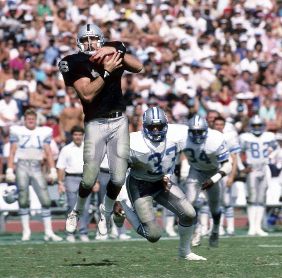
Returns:
[[[247,207],[247,215],[249,221],[249,231],[248,235],[255,235],[256,234],[256,182],[257,180],[257,173],[255,171],[251,172],[247,176],[247,187],[248,187],[248,207]]]

